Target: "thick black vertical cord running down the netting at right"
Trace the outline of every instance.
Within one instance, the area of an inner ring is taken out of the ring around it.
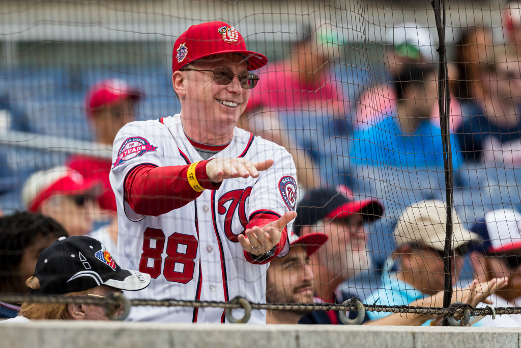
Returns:
[[[440,127],[443,142],[443,169],[445,172],[445,194],[447,220],[445,228],[445,248],[443,250],[443,269],[445,273],[443,307],[449,307],[452,297],[452,275],[451,275],[451,255],[452,255],[452,150],[450,140],[450,92],[447,71],[447,58],[445,51],[445,0],[432,0],[432,8],[436,19],[439,38],[439,76],[438,76],[438,104],[440,107]],[[446,320],[443,326],[448,326]]]

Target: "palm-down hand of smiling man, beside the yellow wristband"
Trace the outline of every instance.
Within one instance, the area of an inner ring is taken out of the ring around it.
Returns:
[[[210,181],[220,183],[235,177],[258,177],[259,172],[273,165],[273,160],[253,163],[244,158],[216,158],[206,164],[206,174]]]

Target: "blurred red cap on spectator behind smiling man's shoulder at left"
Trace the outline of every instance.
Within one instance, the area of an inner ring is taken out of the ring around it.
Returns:
[[[103,105],[115,104],[121,99],[141,99],[141,92],[137,88],[129,87],[125,81],[118,79],[104,80],[91,87],[86,97],[87,114],[92,116],[93,111]]]

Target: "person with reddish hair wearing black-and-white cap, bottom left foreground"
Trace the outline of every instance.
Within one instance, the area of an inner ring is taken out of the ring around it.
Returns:
[[[103,244],[87,236],[60,237],[42,251],[33,273],[26,284],[36,295],[108,297],[150,284],[150,274],[121,269]],[[6,322],[31,319],[108,320],[100,306],[24,302],[20,315]]]

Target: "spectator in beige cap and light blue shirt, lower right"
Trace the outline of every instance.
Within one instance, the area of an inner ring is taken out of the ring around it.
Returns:
[[[455,210],[452,219],[452,280],[455,282],[456,274],[463,267],[466,247],[479,241],[479,236],[463,228]],[[364,303],[394,306],[417,301],[420,306],[432,305],[425,297],[444,289],[445,221],[446,208],[439,200],[419,201],[403,211],[393,231],[396,242],[393,258],[397,270],[383,274],[380,289],[369,295]],[[369,319],[379,319],[388,313],[368,312],[367,315]]]

